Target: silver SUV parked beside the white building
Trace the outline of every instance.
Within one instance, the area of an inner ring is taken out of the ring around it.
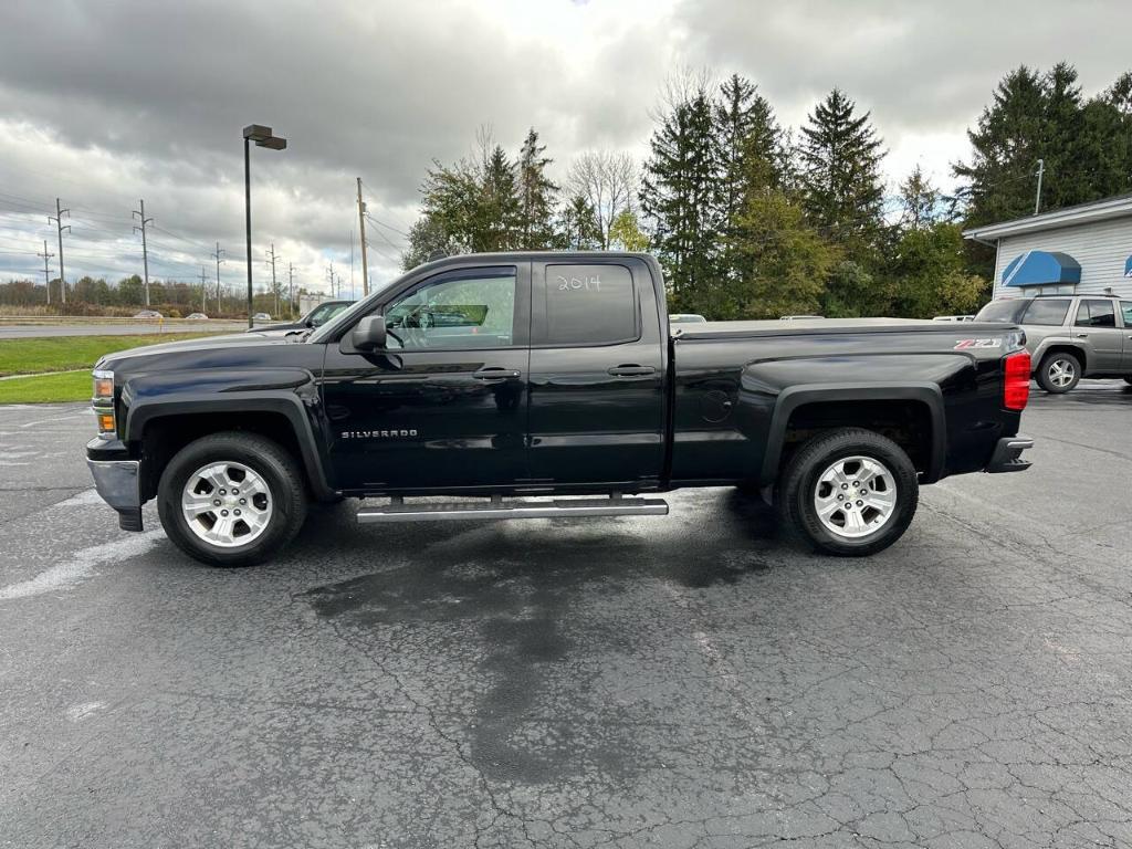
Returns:
[[[1132,300],[1038,295],[990,301],[976,321],[1011,321],[1026,331],[1034,376],[1046,392],[1069,392],[1082,377],[1132,384]]]

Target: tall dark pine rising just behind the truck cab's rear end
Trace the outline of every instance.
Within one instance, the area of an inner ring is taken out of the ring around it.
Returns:
[[[719,156],[705,84],[670,98],[653,131],[641,207],[671,286],[674,306],[700,311],[697,300],[718,280]]]

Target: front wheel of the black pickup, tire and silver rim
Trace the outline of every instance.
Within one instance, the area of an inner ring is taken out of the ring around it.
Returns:
[[[196,483],[187,491],[190,478]],[[217,499],[221,511],[212,509]],[[186,507],[196,512],[191,523]],[[307,494],[294,458],[278,444],[254,434],[213,434],[189,443],[165,466],[157,513],[169,539],[189,557],[211,566],[252,566],[299,532]]]

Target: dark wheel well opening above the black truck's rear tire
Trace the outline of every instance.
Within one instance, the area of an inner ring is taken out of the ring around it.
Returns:
[[[865,428],[886,436],[908,454],[917,472],[932,464],[932,411],[921,401],[817,401],[790,413],[780,464],[823,430]]]

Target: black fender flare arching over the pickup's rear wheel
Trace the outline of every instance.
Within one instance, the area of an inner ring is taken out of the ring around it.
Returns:
[[[937,384],[811,384],[790,386],[779,393],[766,436],[766,452],[763,455],[763,469],[760,478],[761,486],[770,486],[778,478],[779,463],[786,444],[787,424],[789,424],[794,411],[804,404],[831,401],[916,401],[924,403],[932,417],[932,451],[923,482],[934,483],[940,480],[947,451],[947,429],[943,393]],[[867,423],[863,423],[861,427],[867,427]]]

